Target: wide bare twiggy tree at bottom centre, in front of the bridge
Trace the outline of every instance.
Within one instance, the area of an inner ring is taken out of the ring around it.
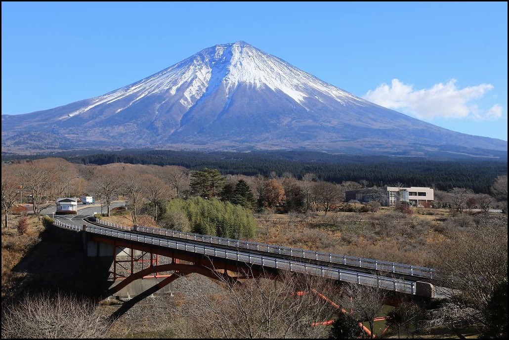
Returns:
[[[186,279],[181,278],[181,279]],[[334,308],[312,292],[330,291],[322,278],[284,274],[232,283],[219,276],[223,292],[209,295],[193,287],[199,315],[188,316],[198,337],[306,338],[324,337],[326,328],[314,326],[333,317]],[[192,285],[191,281],[187,282]]]

